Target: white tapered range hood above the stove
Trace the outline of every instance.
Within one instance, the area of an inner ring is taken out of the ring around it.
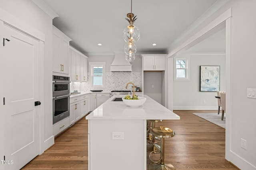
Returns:
[[[110,71],[112,72],[131,72],[132,64],[125,59],[125,53],[117,53],[114,57],[113,63],[110,64]]]

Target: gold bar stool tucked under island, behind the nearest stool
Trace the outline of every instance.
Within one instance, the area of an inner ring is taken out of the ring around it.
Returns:
[[[147,151],[152,152],[153,150],[160,150],[160,141],[156,141],[154,135],[150,133],[151,129],[155,127],[156,123],[162,120],[147,120]],[[151,126],[152,123],[152,126]]]

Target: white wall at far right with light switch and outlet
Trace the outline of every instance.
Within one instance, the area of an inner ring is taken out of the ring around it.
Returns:
[[[256,100],[246,97],[246,88],[256,88],[255,6],[255,0],[229,0],[177,45],[180,49],[180,45],[185,45],[185,42],[197,35],[196,33],[204,27],[214,25],[212,23],[216,23],[215,19],[221,21],[223,18],[218,17],[232,8],[232,18],[225,19],[226,80],[228,80],[226,82],[226,92],[228,92],[226,94],[226,159],[242,170],[256,170]],[[247,149],[241,147],[241,138],[247,141]]]

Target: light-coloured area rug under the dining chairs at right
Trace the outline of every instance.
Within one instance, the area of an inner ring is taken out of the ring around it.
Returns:
[[[218,125],[224,129],[226,129],[226,115],[224,114],[223,120],[221,120],[221,113],[218,115],[218,113],[193,113],[194,115],[197,115],[198,117],[201,117],[207,121],[210,121],[211,123],[214,123],[215,125]]]

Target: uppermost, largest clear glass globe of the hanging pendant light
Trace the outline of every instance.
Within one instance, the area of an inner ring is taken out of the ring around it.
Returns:
[[[126,43],[136,43],[140,39],[140,29],[135,25],[128,25],[124,28],[123,38]]]

